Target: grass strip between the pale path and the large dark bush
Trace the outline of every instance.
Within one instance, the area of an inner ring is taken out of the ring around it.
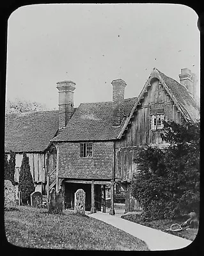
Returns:
[[[185,220],[187,220],[186,217],[176,219],[176,220],[168,220],[167,219],[167,220],[142,221],[142,220],[140,220],[140,215],[134,213],[134,214],[124,215],[121,218],[141,224],[141,225],[145,225],[150,228],[155,228],[155,229],[161,230],[168,234],[180,236],[182,238],[189,239],[191,241],[193,241],[196,238],[196,235],[198,233],[198,228],[191,228],[191,229],[181,230],[181,231],[177,231],[177,232],[173,232],[170,230],[166,231],[166,229],[170,228],[172,224],[178,223],[181,225]]]

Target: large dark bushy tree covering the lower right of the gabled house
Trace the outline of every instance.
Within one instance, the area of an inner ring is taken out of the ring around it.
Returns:
[[[164,122],[166,148],[147,146],[135,162],[132,195],[143,205],[143,218],[174,218],[200,203],[200,122]]]

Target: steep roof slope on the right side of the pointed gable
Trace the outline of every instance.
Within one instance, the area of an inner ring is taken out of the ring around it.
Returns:
[[[166,83],[169,91],[174,95],[177,100],[177,104],[180,106],[186,116],[189,116],[191,120],[200,118],[200,106],[196,103],[196,100],[192,99],[191,95],[187,91],[185,86],[178,83],[176,80],[164,75],[158,70],[162,79]]]

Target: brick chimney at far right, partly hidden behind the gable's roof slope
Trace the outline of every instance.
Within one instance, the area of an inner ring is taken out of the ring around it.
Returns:
[[[197,82],[196,75],[193,74],[189,68],[182,68],[179,79],[180,84],[187,88],[192,98],[195,98]]]

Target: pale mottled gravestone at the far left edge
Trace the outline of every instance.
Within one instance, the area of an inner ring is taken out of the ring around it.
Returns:
[[[4,180],[4,208],[12,209],[16,207],[15,186],[10,180]]]

